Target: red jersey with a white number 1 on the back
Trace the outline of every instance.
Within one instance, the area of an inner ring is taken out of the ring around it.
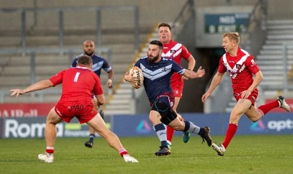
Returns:
[[[62,94],[59,101],[89,101],[91,92],[94,95],[103,94],[100,78],[84,66],[68,68],[52,76],[50,81],[54,86],[62,83]]]

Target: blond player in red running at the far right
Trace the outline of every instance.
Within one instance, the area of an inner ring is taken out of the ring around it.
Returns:
[[[209,97],[212,91],[220,84],[224,73],[228,70],[231,76],[234,97],[237,100],[229,120],[223,144],[212,144],[212,148],[223,156],[230,141],[236,133],[238,121],[245,114],[246,117],[257,122],[264,114],[275,107],[281,107],[290,112],[290,107],[283,96],[279,96],[275,101],[256,107],[255,101],[258,97],[257,86],[263,80],[263,74],[256,64],[254,57],[247,51],[240,49],[239,35],[237,32],[226,32],[223,35],[223,48],[226,53],[221,57],[218,72],[214,75],[211,84],[202,97],[202,101]],[[252,76],[255,75],[253,79]]]

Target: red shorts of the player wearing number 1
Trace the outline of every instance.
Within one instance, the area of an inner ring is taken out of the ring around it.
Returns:
[[[67,123],[76,117],[80,124],[87,123],[98,113],[90,101],[59,101],[55,106],[55,112]]]

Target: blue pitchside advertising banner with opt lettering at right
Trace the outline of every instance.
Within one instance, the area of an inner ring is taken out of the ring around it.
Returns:
[[[229,114],[181,114],[181,116],[199,126],[209,126],[212,135],[225,135]],[[113,131],[118,136],[156,136],[148,115],[116,115]],[[245,115],[239,121],[237,135],[251,134],[293,134],[292,113],[268,113],[257,123],[251,122]],[[182,135],[176,131],[175,135]]]

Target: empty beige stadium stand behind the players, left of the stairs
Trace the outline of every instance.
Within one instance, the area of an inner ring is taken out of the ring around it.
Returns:
[[[169,1],[170,2],[170,1]],[[172,0],[175,2],[175,0]],[[1,5],[0,16],[0,50],[4,50],[4,53],[0,53],[0,79],[5,83],[0,84],[1,102],[55,102],[59,99],[60,87],[56,90],[45,90],[42,93],[35,92],[32,95],[21,96],[19,99],[13,99],[9,97],[8,90],[11,88],[22,88],[28,86],[31,82],[38,81],[44,78],[48,78],[54,75],[56,72],[69,67],[73,56],[77,56],[82,53],[82,43],[86,39],[91,39],[96,42],[97,38],[97,26],[96,26],[96,11],[87,11],[87,8],[92,10],[93,7],[102,9],[101,12],[101,41],[102,48],[100,49],[111,50],[111,65],[115,71],[114,86],[118,84],[122,79],[125,71],[127,70],[129,63],[137,54],[135,48],[136,39],[134,37],[135,28],[135,16],[129,8],[138,7],[139,9],[139,42],[145,41],[148,32],[151,30],[154,23],[161,22],[175,18],[176,14],[180,10],[185,1],[176,3],[164,4],[165,8],[161,10],[153,9],[153,5],[158,8],[160,5],[156,5],[156,0],[148,1],[136,1],[136,0],[121,0],[114,1],[92,1],[90,6],[78,1],[55,1],[47,2],[45,0],[29,0],[11,2],[4,0]],[[127,6],[125,4],[131,4]],[[88,7],[87,7],[88,6]],[[62,44],[60,44],[60,9],[61,8],[73,8],[76,11],[63,11],[63,35]],[[122,8],[121,10],[111,11],[113,8]],[[144,7],[144,8],[142,8]],[[17,9],[15,9],[17,8]],[[26,43],[25,48],[22,42],[21,32],[21,15],[22,10],[27,8],[26,12]],[[34,11],[33,9],[38,9]],[[82,11],[80,8],[86,9]],[[149,9],[156,10],[156,13],[149,13]],[[126,10],[124,10],[126,9]],[[17,12],[14,12],[14,11]],[[130,12],[129,12],[130,11]],[[172,11],[169,15],[163,15],[164,13]],[[158,16],[161,16],[158,19]],[[163,18],[162,18],[163,17]],[[4,27],[5,26],[5,27]],[[140,46],[140,43],[138,43]],[[58,51],[61,49],[74,50],[74,53]],[[32,80],[31,71],[31,54],[21,53],[21,49],[31,50],[55,50],[55,52],[36,52],[35,59],[35,79]],[[9,50],[9,54],[7,54]],[[14,50],[16,51],[15,53]],[[11,53],[12,52],[12,53]],[[79,52],[79,53],[78,53]],[[100,51],[101,56],[106,59],[109,55],[105,51]],[[109,61],[109,60],[108,60]],[[105,72],[101,75],[102,82],[107,79]],[[123,86],[123,85],[118,85]],[[105,84],[103,88],[107,91]],[[114,93],[120,93],[121,89],[114,90]],[[111,94],[111,92],[109,93]],[[125,96],[125,95],[124,95]],[[131,96],[130,96],[131,97]],[[110,98],[106,96],[106,99]],[[117,98],[117,97],[113,97]],[[120,100],[120,103],[125,101]],[[123,107],[123,106],[121,106]],[[111,108],[111,107],[109,107]],[[118,106],[116,106],[118,108]]]

